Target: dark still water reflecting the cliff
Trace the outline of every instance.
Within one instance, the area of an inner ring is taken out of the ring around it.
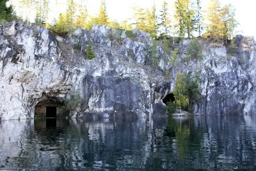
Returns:
[[[256,122],[236,115],[2,121],[0,170],[256,170]]]

